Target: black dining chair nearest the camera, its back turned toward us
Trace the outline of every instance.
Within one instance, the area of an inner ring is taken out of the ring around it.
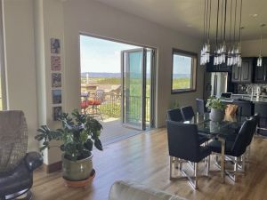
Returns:
[[[198,188],[198,163],[206,158],[206,175],[209,170],[209,155],[211,150],[200,146],[198,140],[198,126],[196,124],[182,124],[174,121],[166,121],[168,149],[170,156],[170,179],[172,179],[173,163],[178,158],[178,169],[190,181],[194,188]],[[182,160],[194,163],[194,180],[182,170]]]

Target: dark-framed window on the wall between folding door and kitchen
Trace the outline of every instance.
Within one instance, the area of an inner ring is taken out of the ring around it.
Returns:
[[[172,93],[196,91],[198,54],[173,49]]]

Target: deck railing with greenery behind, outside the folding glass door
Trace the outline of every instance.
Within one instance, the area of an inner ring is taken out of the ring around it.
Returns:
[[[129,96],[127,99],[127,118],[140,120],[142,118],[142,103],[140,96]],[[109,117],[121,117],[121,95],[105,94],[100,105],[101,114]],[[150,122],[150,97],[146,97],[146,122]]]

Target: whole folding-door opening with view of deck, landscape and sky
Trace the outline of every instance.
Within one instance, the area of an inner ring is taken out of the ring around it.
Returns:
[[[81,108],[100,120],[104,143],[153,127],[153,49],[81,35],[80,55]]]

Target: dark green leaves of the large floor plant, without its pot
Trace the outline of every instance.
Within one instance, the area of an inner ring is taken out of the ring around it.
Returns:
[[[61,140],[61,151],[64,157],[69,160],[80,160],[91,156],[93,145],[102,150],[101,135],[102,125],[92,116],[80,113],[75,109],[71,116],[62,113],[59,117],[62,128],[55,131],[50,130],[47,125],[42,125],[38,130],[35,139],[43,141],[40,151],[50,148],[52,140]]]

